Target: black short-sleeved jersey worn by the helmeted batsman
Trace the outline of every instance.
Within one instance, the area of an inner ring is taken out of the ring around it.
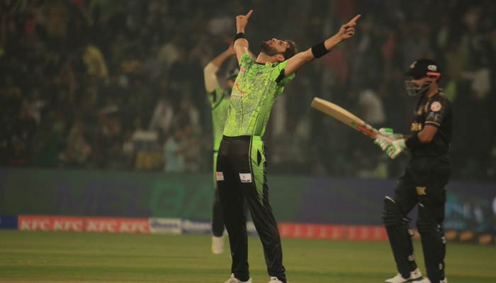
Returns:
[[[441,92],[430,98],[419,98],[412,122],[412,133],[422,131],[427,125],[436,127],[437,132],[431,142],[412,149],[413,156],[447,156],[451,143],[452,115],[451,103]]]

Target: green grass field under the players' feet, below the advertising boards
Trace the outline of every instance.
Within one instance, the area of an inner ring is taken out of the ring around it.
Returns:
[[[291,283],[395,275],[388,243],[283,239],[283,251]],[[249,263],[254,283],[269,281],[257,237],[249,238]],[[446,266],[450,283],[494,283],[496,247],[451,243]],[[228,253],[210,253],[210,236],[0,231],[0,282],[223,283],[229,270]]]

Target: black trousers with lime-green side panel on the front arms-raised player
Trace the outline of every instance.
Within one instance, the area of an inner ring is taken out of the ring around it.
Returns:
[[[269,275],[286,282],[281,238],[269,204],[265,165],[264,142],[260,137],[222,138],[216,179],[229,233],[231,272],[242,281],[249,279],[248,239],[243,212],[246,203],[264,247]]]

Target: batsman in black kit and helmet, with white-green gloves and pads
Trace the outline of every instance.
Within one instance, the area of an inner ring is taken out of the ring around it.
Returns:
[[[385,197],[383,221],[395,258],[398,275],[388,283],[422,282],[446,283],[444,275],[444,204],[449,169],[451,142],[451,103],[438,87],[441,71],[436,62],[418,59],[407,71],[405,81],[409,95],[419,95],[412,123],[412,135],[393,134],[380,129],[376,144],[395,158],[410,151],[411,159],[395,188],[394,197]],[[419,204],[417,229],[422,241],[427,278],[417,268],[413,253],[413,231],[407,214]]]

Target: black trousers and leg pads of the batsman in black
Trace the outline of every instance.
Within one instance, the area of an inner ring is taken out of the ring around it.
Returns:
[[[393,202],[385,200],[383,219],[398,272],[409,277],[417,267],[412,240],[407,232],[407,214],[418,204],[417,229],[422,242],[427,277],[431,282],[444,279],[446,238],[443,221],[445,185],[450,176],[447,156],[414,157],[395,188]],[[396,214],[396,215],[395,215]]]

